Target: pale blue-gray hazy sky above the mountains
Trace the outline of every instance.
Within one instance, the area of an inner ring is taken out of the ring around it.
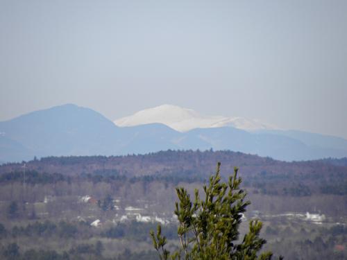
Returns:
[[[347,138],[347,1],[0,0],[0,121],[64,103]]]

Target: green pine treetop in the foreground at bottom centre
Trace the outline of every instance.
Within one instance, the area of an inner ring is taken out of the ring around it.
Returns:
[[[228,183],[223,183],[220,166],[218,163],[209,185],[203,186],[205,198],[201,199],[196,189],[192,201],[186,189],[176,188],[179,202],[176,202],[175,214],[179,221],[180,250],[171,254],[164,248],[167,239],[158,225],[156,234],[151,231],[151,237],[160,259],[271,259],[271,252],[257,256],[266,243],[260,238],[262,223],[259,220],[251,220],[248,233],[241,243],[237,243],[242,214],[251,202],[244,201],[246,192],[239,188],[242,180],[237,177],[238,168],[234,168]]]

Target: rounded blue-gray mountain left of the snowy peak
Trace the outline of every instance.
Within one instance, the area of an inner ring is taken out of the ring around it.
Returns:
[[[112,155],[119,128],[93,110],[62,105],[0,122],[0,132],[38,157]]]

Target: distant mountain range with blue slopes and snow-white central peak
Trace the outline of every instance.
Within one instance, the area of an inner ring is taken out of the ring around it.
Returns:
[[[271,125],[249,119],[201,116],[172,105],[142,110],[115,123],[76,105],[52,107],[0,122],[0,162],[19,162],[34,156],[127,155],[210,148],[286,161],[347,157],[346,139],[274,130]]]

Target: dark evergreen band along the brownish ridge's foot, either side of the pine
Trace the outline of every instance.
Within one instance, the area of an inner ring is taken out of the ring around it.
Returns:
[[[197,175],[193,171],[181,171],[176,173],[167,173],[165,175],[139,175],[135,177],[127,177],[121,175],[117,171],[94,171],[94,173],[83,173],[74,177],[66,176],[61,173],[40,173],[37,171],[27,171],[25,173],[26,184],[57,184],[58,182],[88,181],[92,183],[99,182],[163,182],[172,185],[178,185],[180,182],[205,183],[208,177],[205,175]],[[10,182],[24,182],[24,173],[15,171],[3,173],[0,175],[0,184]],[[312,193],[323,193],[344,196],[347,194],[347,182],[344,175],[332,174],[329,180],[325,175],[273,175],[262,171],[259,175],[245,177],[245,187],[253,187],[255,192],[271,196],[311,196]]]

